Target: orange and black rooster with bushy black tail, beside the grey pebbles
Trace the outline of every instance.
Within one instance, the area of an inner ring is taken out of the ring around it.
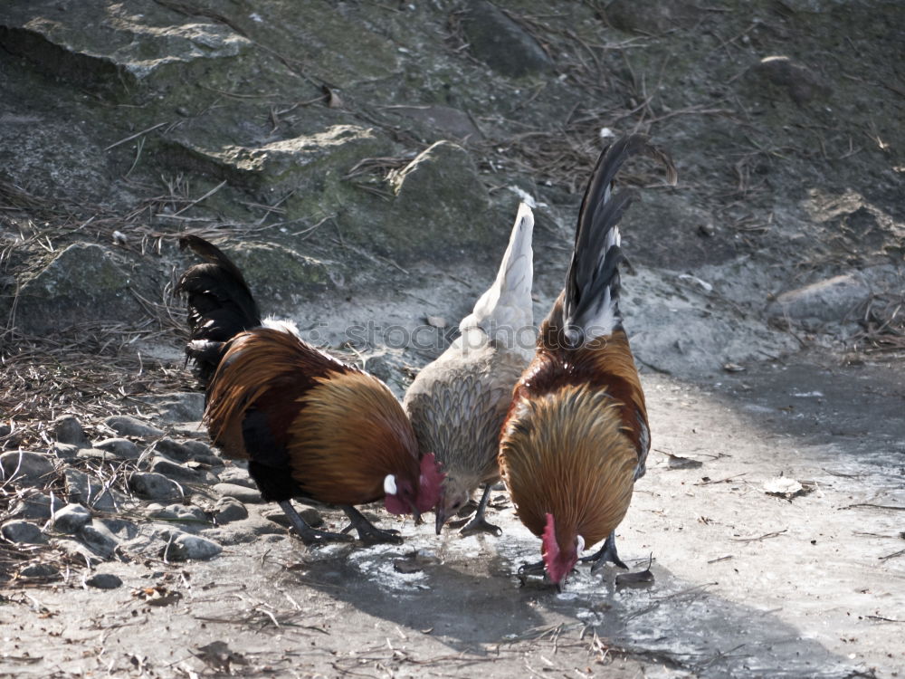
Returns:
[[[433,509],[443,473],[419,459],[402,406],[379,379],[302,341],[290,323],[263,320],[242,273],[197,236],[180,243],[206,263],[183,274],[186,354],[206,387],[205,424],[225,456],[248,460],[267,501],[279,502],[305,544],[348,540],[312,529],[291,505],[338,505],[367,543],[399,541],[352,505],[384,498],[395,514]]]

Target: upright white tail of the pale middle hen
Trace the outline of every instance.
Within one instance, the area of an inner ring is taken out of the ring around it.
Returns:
[[[500,271],[490,289],[481,295],[471,314],[462,319],[459,330],[481,328],[491,338],[500,332],[511,336],[534,323],[531,284],[534,278],[534,214],[524,203],[519,205],[512,225],[509,246],[503,254]]]

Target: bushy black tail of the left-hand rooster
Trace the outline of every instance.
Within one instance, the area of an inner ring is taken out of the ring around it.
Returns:
[[[205,259],[182,274],[176,292],[186,295],[188,302],[186,360],[195,363],[206,388],[226,343],[243,330],[260,326],[261,312],[242,272],[219,248],[196,235],[183,236],[179,246]]]

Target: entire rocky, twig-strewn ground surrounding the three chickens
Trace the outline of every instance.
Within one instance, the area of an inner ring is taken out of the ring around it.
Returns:
[[[264,5],[0,10],[0,674],[905,672],[901,6]],[[632,131],[653,583],[521,587],[503,490],[500,539],[305,550],[198,425],[178,235],[401,395],[525,196],[546,313]]]

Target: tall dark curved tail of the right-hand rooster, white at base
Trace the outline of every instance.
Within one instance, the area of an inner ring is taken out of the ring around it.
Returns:
[[[676,183],[672,159],[643,135],[618,139],[600,154],[578,213],[575,249],[566,276],[563,322],[574,347],[622,325],[619,264],[625,256],[617,225],[633,196],[626,191],[613,195],[612,186],[625,160],[637,153],[662,161],[667,182]]]

